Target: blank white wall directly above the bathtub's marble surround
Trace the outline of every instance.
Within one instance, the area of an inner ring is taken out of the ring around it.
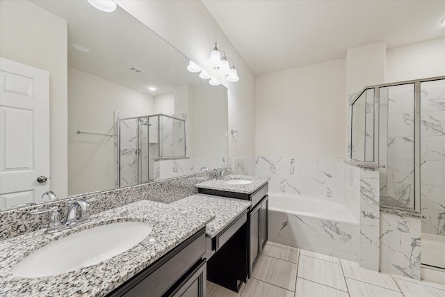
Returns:
[[[259,75],[257,156],[344,158],[345,86],[344,59]]]

